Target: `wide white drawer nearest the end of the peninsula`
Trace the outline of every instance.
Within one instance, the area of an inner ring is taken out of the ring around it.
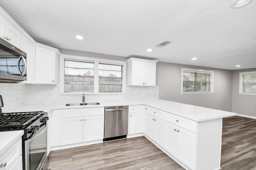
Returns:
[[[166,114],[166,121],[184,129],[187,129],[188,131],[196,133],[196,121],[173,115],[171,113]]]

